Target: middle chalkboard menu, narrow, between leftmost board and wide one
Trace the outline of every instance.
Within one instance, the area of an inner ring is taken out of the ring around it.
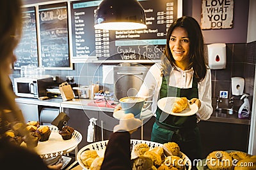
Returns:
[[[44,67],[70,67],[67,2],[40,5],[40,53]]]

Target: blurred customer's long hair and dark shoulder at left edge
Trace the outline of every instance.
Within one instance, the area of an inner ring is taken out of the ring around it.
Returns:
[[[29,139],[9,78],[10,66],[16,60],[13,50],[22,33],[22,1],[1,0],[0,3],[0,169],[60,169],[62,163],[47,167],[32,148],[16,145],[6,135],[13,131]]]

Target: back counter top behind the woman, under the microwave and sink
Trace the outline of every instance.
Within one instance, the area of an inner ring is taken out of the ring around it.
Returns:
[[[17,103],[24,103],[24,104],[37,104],[42,106],[54,106],[54,107],[60,107],[60,108],[72,108],[72,109],[79,109],[79,110],[94,110],[94,111],[108,111],[108,112],[114,111],[114,108],[88,106],[88,103],[92,102],[93,99],[73,99],[72,101],[63,101],[61,98],[53,98],[53,99],[40,101],[38,99],[33,99],[33,98],[17,97],[15,101]],[[218,113],[216,111],[212,113],[211,118],[209,118],[208,120],[202,120],[202,121],[250,125],[250,120],[238,118],[237,113],[233,115],[228,115],[225,113]]]

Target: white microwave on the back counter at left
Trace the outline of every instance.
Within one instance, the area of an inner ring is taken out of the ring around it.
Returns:
[[[15,94],[19,97],[39,98],[47,96],[47,86],[54,83],[52,77],[47,78],[14,78]]]

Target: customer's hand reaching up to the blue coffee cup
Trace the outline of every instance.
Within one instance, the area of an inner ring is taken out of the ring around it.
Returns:
[[[122,119],[120,119],[119,124],[114,127],[114,132],[127,131],[132,134],[132,132],[136,131],[140,126],[141,120],[134,118],[132,113],[127,113]]]

